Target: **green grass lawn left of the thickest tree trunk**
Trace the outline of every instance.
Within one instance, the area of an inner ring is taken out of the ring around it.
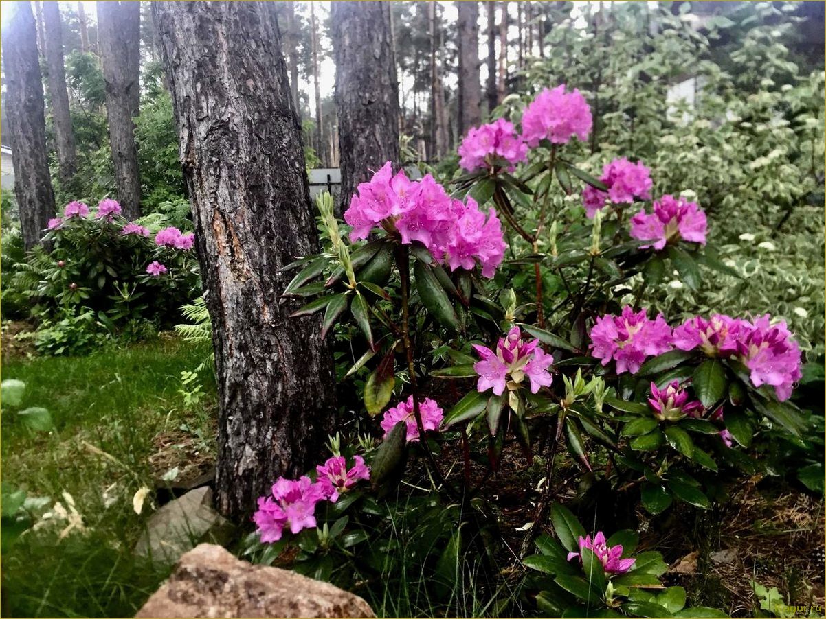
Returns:
[[[202,347],[159,338],[89,357],[3,365],[3,379],[26,382],[24,406],[49,409],[55,422],[53,432],[32,432],[14,414],[2,416],[3,484],[49,497],[50,506],[66,506],[68,493],[83,517],[83,531],[62,539],[66,522],[55,522],[3,547],[3,615],[131,617],[164,579],[132,555],[151,513],[136,514],[132,497],[141,486],[151,488],[159,466],[178,451],[185,461],[183,447],[214,449],[214,383],[205,385],[199,404],[186,406],[178,393],[181,371],[204,355]],[[150,457],[157,458],[159,436],[171,444],[160,462]]]

